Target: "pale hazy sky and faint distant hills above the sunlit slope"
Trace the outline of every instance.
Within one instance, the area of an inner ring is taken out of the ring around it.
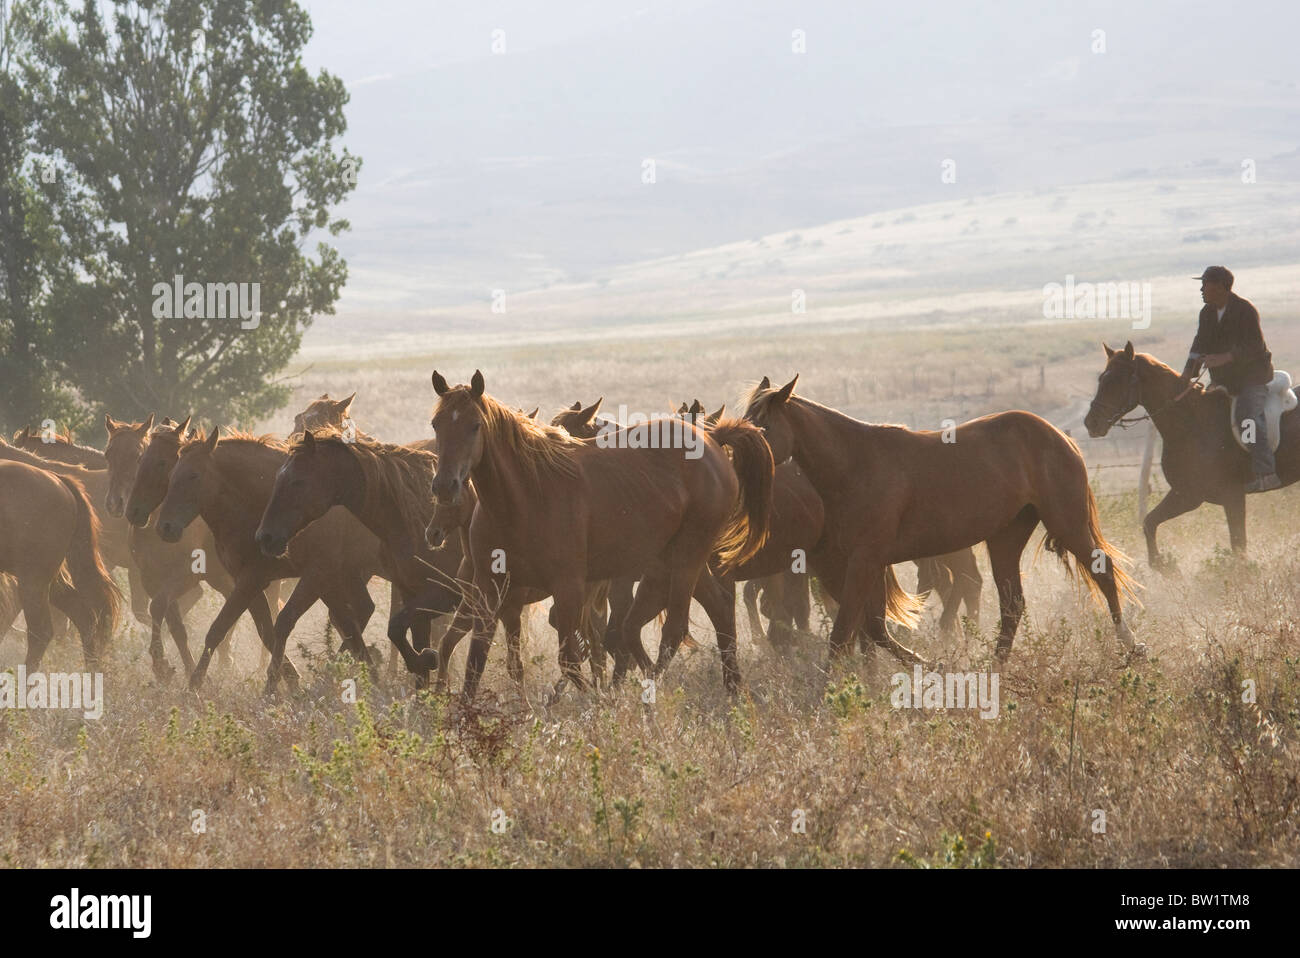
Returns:
[[[355,320],[954,196],[1300,179],[1294,3],[304,6],[364,164]]]

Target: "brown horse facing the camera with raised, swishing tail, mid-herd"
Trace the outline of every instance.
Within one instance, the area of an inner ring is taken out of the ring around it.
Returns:
[[[585,685],[577,627],[586,582],[644,576],[625,638],[640,645],[641,625],[667,604],[664,633],[676,647],[710,555],[720,552],[729,568],[762,547],[772,459],[746,424],[722,422],[710,437],[681,422],[677,448],[632,447],[618,437],[601,446],[511,412],[485,393],[480,372],[471,385],[456,387],[434,372],[433,386],[439,396],[433,493],[439,503],[455,504],[473,477],[478,494],[469,528],[474,586],[484,595],[503,595],[508,582],[555,598],[564,679]],[[698,456],[684,454],[688,441]],[[493,624],[486,615],[474,616],[469,694],[482,673]],[[734,690],[734,634],[719,633],[718,641],[724,684]]]

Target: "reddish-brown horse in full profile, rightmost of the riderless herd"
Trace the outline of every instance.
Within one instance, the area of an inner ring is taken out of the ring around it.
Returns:
[[[774,389],[764,378],[745,419],[759,425],[777,460],[803,467],[826,504],[826,534],[814,569],[840,602],[831,655],[844,655],[866,615],[871,638],[909,663],[922,662],[887,632],[887,617],[914,625],[918,598],[898,586],[890,565],[988,543],[1002,612],[998,656],[1024,610],[1020,552],[1041,521],[1045,545],[1105,598],[1124,649],[1135,650],[1121,595],[1132,581],[1124,556],[1105,541],[1088,471],[1078,446],[1028,412],[1001,412],[958,426],[956,442],[937,432],[871,425]]]

